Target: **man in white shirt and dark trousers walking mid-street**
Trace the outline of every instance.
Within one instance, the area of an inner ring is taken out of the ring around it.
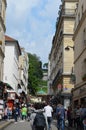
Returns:
[[[51,128],[51,122],[52,122],[52,112],[53,108],[48,103],[47,106],[44,107],[45,115],[47,116],[47,122],[48,122],[48,130]]]

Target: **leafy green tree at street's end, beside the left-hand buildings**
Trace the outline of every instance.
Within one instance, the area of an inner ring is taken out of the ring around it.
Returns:
[[[40,58],[37,57],[35,54],[29,53],[28,57],[29,57],[28,89],[32,95],[35,95],[40,86],[40,80],[43,77],[42,62],[40,61]]]

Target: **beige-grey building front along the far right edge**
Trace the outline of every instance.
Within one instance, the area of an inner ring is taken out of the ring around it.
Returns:
[[[79,0],[77,5],[73,40],[76,84],[72,92],[76,106],[86,104],[86,0]]]

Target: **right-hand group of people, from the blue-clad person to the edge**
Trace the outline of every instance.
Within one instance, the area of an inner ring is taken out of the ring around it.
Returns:
[[[68,128],[75,128],[76,130],[86,130],[86,105],[77,105],[76,108],[71,106],[65,109],[62,104],[56,107],[57,128],[58,130],[65,130]]]

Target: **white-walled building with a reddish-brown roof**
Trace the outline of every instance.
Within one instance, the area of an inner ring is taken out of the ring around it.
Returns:
[[[7,90],[9,99],[16,99],[19,85],[19,56],[21,49],[17,40],[5,36],[5,58],[3,82],[9,84],[12,90]]]

